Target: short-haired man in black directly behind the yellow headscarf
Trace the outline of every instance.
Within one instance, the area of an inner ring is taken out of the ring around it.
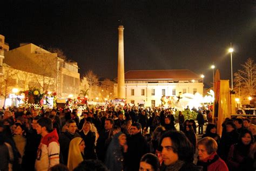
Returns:
[[[60,162],[63,164],[68,163],[69,143],[73,138],[80,137],[76,132],[77,125],[75,120],[66,121],[67,130],[59,135],[60,146]]]

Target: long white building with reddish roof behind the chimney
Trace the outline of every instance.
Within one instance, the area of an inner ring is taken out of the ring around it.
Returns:
[[[160,106],[161,97],[181,93],[203,94],[203,81],[190,70],[138,70],[125,73],[125,98],[127,103]],[[117,97],[117,84],[114,84]]]

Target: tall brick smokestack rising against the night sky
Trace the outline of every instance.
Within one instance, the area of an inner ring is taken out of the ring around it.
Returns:
[[[117,97],[125,99],[124,86],[124,26],[118,26],[118,67],[117,67]]]

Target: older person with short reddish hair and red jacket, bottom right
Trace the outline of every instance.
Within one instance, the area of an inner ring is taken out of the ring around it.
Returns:
[[[228,171],[226,163],[216,153],[217,142],[211,137],[205,137],[198,141],[198,166],[203,166],[203,170]]]

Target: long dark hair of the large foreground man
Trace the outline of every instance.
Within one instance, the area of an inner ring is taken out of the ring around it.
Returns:
[[[161,146],[161,142],[163,141],[164,138],[170,138],[172,140],[173,152],[178,154],[179,160],[185,162],[193,162],[194,147],[183,132],[165,132],[160,138],[159,146]],[[161,149],[162,148],[163,147],[161,147]]]

